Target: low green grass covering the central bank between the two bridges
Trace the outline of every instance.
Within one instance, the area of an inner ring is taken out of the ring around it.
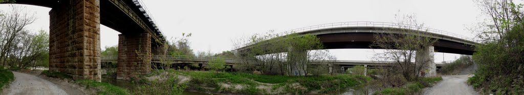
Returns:
[[[274,84],[272,89],[283,87],[289,93],[307,93],[314,90],[322,92],[335,91],[337,89],[345,89],[356,85],[364,84],[371,80],[370,77],[336,74],[336,75],[320,75],[320,76],[281,76],[281,75],[256,75],[246,73],[215,73],[202,71],[170,71],[185,76],[192,77],[189,82],[189,89],[196,89],[198,87],[219,87],[219,83],[225,84],[241,84],[246,85],[245,89],[240,92],[243,94],[263,94],[262,90],[256,89],[257,86],[264,84]],[[298,83],[300,86],[307,89],[294,89],[290,84]],[[228,89],[222,89],[228,90]]]

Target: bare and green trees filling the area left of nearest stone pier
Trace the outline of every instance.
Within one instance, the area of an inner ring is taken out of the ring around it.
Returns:
[[[4,13],[0,11],[0,64],[1,67],[28,69],[48,66],[49,34],[45,31],[30,33],[26,26],[35,21],[34,15],[17,6]]]

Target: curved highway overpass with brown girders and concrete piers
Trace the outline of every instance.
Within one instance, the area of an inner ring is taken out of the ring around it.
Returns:
[[[478,44],[473,41],[473,38],[458,35],[455,33],[426,28],[417,25],[390,22],[358,21],[328,23],[293,29],[287,32],[280,33],[279,35],[286,36],[291,33],[298,33],[299,35],[315,35],[320,39],[320,41],[324,45],[324,49],[384,49],[381,47],[371,46],[372,43],[376,40],[376,36],[380,33],[408,34],[429,37],[432,39],[436,39],[436,42],[432,46],[425,48],[424,50],[417,51],[416,60],[431,60],[430,64],[434,64],[434,52],[473,55],[473,52],[475,52],[475,45]],[[255,43],[248,43],[246,46],[237,48],[235,50],[249,51],[249,49],[252,48],[252,45],[254,44]],[[429,69],[430,72],[428,74],[430,76],[436,75],[435,65],[432,65]]]

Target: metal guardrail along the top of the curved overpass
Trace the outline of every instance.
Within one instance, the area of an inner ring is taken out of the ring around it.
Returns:
[[[418,31],[426,31],[430,33],[440,34],[440,35],[446,35],[451,36],[455,38],[460,39],[466,39],[473,41],[473,38],[466,37],[463,35],[446,32],[442,30],[427,28],[423,26],[417,26],[417,25],[410,25],[410,24],[401,24],[401,23],[391,23],[391,22],[372,22],[372,21],[355,21],[355,22],[336,22],[336,23],[326,23],[326,24],[319,24],[319,25],[312,25],[312,26],[306,26],[303,28],[298,29],[292,29],[289,31],[285,31],[282,33],[277,33],[278,35],[288,35],[291,33],[301,33],[301,32],[308,32],[308,31],[314,31],[314,30],[322,30],[322,29],[332,29],[332,28],[352,28],[352,27],[361,27],[361,26],[368,26],[368,27],[377,27],[377,28],[399,28],[399,29],[410,29],[410,30],[418,30]],[[252,43],[247,43],[246,46],[250,45]]]

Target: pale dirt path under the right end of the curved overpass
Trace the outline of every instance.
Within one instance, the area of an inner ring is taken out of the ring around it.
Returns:
[[[478,94],[473,87],[466,84],[468,77],[473,75],[451,75],[442,76],[442,82],[426,89],[424,94]]]

